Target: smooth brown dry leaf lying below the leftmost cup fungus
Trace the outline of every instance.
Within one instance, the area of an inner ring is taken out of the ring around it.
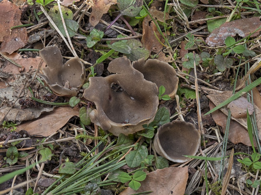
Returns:
[[[58,107],[37,120],[18,125],[16,131],[26,130],[30,135],[49,136],[63,127],[73,116],[79,116],[78,108]]]

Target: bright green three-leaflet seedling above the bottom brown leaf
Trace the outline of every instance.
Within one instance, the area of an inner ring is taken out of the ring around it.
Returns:
[[[126,172],[122,172],[121,174],[119,174],[118,179],[122,183],[127,183],[128,181],[130,181],[129,187],[133,190],[138,190],[141,186],[139,181],[143,181],[146,178],[146,176],[147,174],[143,171],[136,171],[134,175],[129,175]]]

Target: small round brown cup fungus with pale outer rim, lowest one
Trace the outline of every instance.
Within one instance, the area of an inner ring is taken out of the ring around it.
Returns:
[[[183,155],[195,155],[200,146],[200,133],[194,125],[174,120],[162,125],[154,138],[156,152],[173,162],[186,162]]]

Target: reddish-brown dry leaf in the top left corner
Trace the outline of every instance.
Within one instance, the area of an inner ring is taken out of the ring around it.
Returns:
[[[18,6],[3,0],[0,3],[0,13],[0,21],[2,21],[0,23],[0,42],[2,42],[0,51],[11,54],[27,43],[25,27],[14,28],[10,32],[11,27],[22,25],[20,22],[22,12]]]

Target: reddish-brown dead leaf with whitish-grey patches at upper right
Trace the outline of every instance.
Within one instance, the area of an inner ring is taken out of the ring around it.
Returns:
[[[261,22],[259,17],[244,18],[232,22],[226,22],[212,31],[209,37],[206,38],[206,43],[211,47],[224,45],[225,39],[228,36],[234,37],[236,34],[238,34],[241,37],[246,37],[253,33],[260,26]],[[260,31],[261,29],[256,31],[250,37],[257,36]]]

